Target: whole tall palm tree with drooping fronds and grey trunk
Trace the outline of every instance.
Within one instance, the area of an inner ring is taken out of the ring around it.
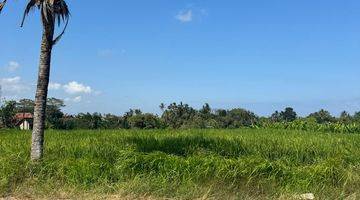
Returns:
[[[7,0],[3,0],[0,3],[0,12],[6,2]],[[66,30],[70,12],[64,0],[29,0],[21,26],[23,26],[26,16],[34,8],[40,10],[43,25],[31,142],[31,160],[37,161],[42,158],[44,150],[45,111],[50,77],[51,51]],[[61,22],[65,23],[65,27],[59,36],[54,37],[55,25],[57,23],[59,26]]]

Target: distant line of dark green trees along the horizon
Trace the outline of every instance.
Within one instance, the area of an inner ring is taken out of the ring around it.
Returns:
[[[0,127],[16,128],[16,113],[33,113],[34,101],[21,99],[6,101],[0,108]],[[307,117],[299,117],[291,107],[275,111],[269,117],[260,117],[242,109],[212,109],[205,104],[195,109],[188,104],[161,104],[161,115],[130,109],[122,116],[101,113],[63,113],[64,101],[49,98],[46,105],[46,128],[48,129],[187,129],[187,128],[283,128],[300,130],[324,130],[332,132],[360,132],[360,112],[351,115],[344,111],[339,117],[320,110]]]

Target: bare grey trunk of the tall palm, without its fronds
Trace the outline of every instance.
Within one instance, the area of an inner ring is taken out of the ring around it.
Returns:
[[[42,21],[43,35],[41,42],[40,64],[35,96],[34,126],[31,142],[32,161],[41,159],[44,151],[46,101],[50,77],[51,51],[54,37],[54,22],[52,20],[46,20],[44,16],[42,17]]]

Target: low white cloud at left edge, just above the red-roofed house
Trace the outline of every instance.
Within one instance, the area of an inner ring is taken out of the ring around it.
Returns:
[[[29,90],[29,86],[21,82],[21,77],[16,76],[12,78],[0,79],[0,86],[5,93],[18,94]]]

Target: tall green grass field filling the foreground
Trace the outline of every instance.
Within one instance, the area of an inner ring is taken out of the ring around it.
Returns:
[[[360,191],[357,134],[47,131],[40,164],[29,162],[29,143],[29,132],[0,130],[0,197],[345,199]]]

